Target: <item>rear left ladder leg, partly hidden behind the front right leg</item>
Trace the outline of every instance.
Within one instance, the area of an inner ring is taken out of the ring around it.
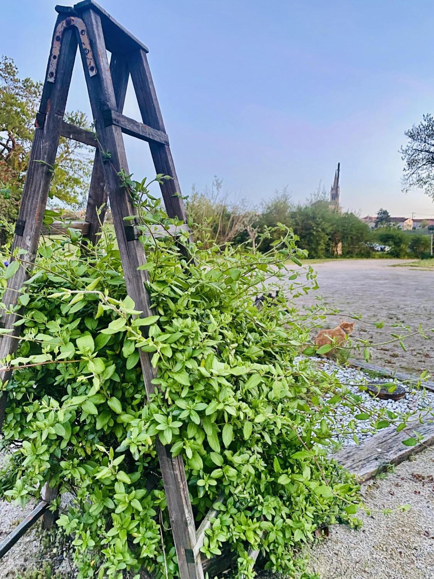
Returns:
[[[113,80],[113,89],[115,90],[116,109],[122,112],[124,108],[125,96],[127,93],[128,64],[126,58],[120,54],[112,54],[110,60],[110,72]],[[91,243],[98,240],[100,232],[100,222],[104,223],[106,212],[107,191],[104,182],[104,168],[102,167],[101,155],[98,148],[95,150],[92,177],[90,179],[89,197],[86,207],[86,222],[90,223],[90,230],[87,238]],[[97,217],[97,209],[104,205],[101,210],[100,219]]]

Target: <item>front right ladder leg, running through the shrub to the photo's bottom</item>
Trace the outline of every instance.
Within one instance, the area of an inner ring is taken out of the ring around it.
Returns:
[[[128,295],[134,300],[137,309],[143,310],[144,316],[150,314],[149,296],[145,290],[145,272],[138,271],[139,265],[145,263],[145,252],[138,240],[127,240],[124,217],[135,214],[130,199],[125,189],[120,187],[117,173],[123,168],[128,171],[128,164],[120,127],[104,126],[102,111],[105,108],[115,109],[116,99],[113,91],[112,79],[108,70],[104,35],[102,34],[100,16],[93,10],[82,13],[86,24],[98,75],[90,76],[87,67],[84,66],[87,90],[96,124],[98,140],[104,151],[111,155],[104,165],[104,177],[108,189],[109,200],[113,214],[117,242],[124,270]],[[82,52],[83,64],[86,63],[86,55]],[[174,198],[176,199],[176,198]],[[131,222],[128,222],[131,224]],[[155,377],[155,371],[150,364],[148,354],[141,352],[140,361],[144,374],[145,387],[148,394],[153,393],[153,385],[150,381]],[[178,556],[179,574],[181,579],[203,579],[203,569],[200,562],[200,554],[193,555],[193,547],[196,543],[196,529],[194,526],[192,505],[190,503],[187,481],[181,457],[173,459],[170,449],[157,441],[161,474],[167,497],[168,512],[174,536],[176,555]]]

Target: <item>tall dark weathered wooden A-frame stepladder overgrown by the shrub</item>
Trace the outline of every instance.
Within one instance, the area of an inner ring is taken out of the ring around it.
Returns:
[[[144,316],[149,316],[149,296],[144,285],[146,273],[137,269],[146,261],[144,248],[134,234],[134,221],[124,221],[124,217],[134,215],[135,211],[117,177],[121,169],[129,173],[122,133],[148,141],[156,173],[172,177],[161,185],[169,217],[186,221],[186,211],[182,199],[175,195],[180,189],[146,58],[148,49],[93,0],[79,2],[73,8],[56,6],[56,12],[58,16],[41,106],[36,116],[35,137],[12,251],[22,248],[27,252],[25,260],[35,261],[50,188],[50,166],[53,166],[56,160],[60,136],[94,146],[96,151],[87,203],[86,228],[83,227],[82,231],[90,240],[96,239],[99,229],[96,208],[101,207],[108,197],[128,295],[134,300],[137,309],[142,310]],[[82,57],[98,140],[95,140],[91,131],[71,126],[63,120],[77,47]],[[110,64],[106,50],[111,52]],[[142,123],[122,114],[129,75],[133,80]],[[111,155],[110,162],[104,163],[104,152],[107,151]],[[43,163],[35,163],[35,160]],[[20,267],[9,280],[9,287],[3,295],[6,306],[16,306],[25,276],[24,268]],[[13,335],[17,335],[18,330],[13,327],[14,321],[16,316],[13,313],[3,314],[4,327],[13,328],[13,333],[2,336],[0,358],[5,358],[16,349],[17,340],[13,339]],[[156,372],[147,353],[141,352],[140,361],[149,396],[153,393],[151,380],[155,378]],[[10,372],[3,371],[0,375],[3,383],[9,378]],[[0,427],[6,404],[7,397],[3,394],[0,399]],[[202,579],[204,573],[199,549],[205,527],[203,523],[196,533],[182,457],[172,458],[170,450],[161,445],[158,439],[156,444],[180,576],[182,579]],[[51,514],[46,511],[46,501],[55,496],[56,490],[46,487],[45,504],[41,507],[40,503],[39,507],[36,507],[34,520],[45,511],[45,516],[48,517],[46,526],[52,523],[49,518]],[[53,515],[51,518],[53,519]],[[27,529],[28,521],[26,524]],[[18,528],[9,543],[3,541],[0,544],[0,556],[19,538]]]

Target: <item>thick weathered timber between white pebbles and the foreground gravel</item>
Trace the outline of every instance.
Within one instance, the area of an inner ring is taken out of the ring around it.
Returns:
[[[420,434],[422,439],[416,446],[405,446],[402,441]],[[389,464],[399,464],[410,455],[434,444],[434,421],[409,424],[400,433],[396,427],[385,428],[360,445],[344,448],[333,455],[341,466],[355,474],[360,481],[367,481]]]

